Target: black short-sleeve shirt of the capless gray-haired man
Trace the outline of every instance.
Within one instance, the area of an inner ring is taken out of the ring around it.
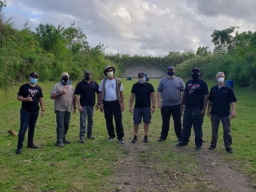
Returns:
[[[220,89],[218,84],[213,86],[208,100],[212,101],[211,114],[221,117],[230,115],[231,102],[237,102],[233,89],[226,84]]]

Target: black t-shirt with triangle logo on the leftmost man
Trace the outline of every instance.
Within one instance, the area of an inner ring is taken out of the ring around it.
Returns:
[[[23,101],[21,107],[25,111],[38,111],[39,106],[39,98],[43,97],[43,93],[41,87],[35,85],[35,87],[30,86],[28,83],[23,84],[20,86],[18,90],[18,95],[22,96],[23,98],[27,98],[27,96],[32,97],[33,101]]]

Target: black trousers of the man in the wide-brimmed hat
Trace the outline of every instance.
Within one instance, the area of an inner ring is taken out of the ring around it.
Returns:
[[[116,135],[117,139],[124,137],[124,130],[122,126],[122,112],[118,100],[113,102],[104,101],[103,107],[109,137],[116,137]],[[116,123],[116,135],[113,125],[113,116]]]

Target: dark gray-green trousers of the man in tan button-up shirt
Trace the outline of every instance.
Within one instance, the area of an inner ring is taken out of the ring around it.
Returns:
[[[56,113],[56,122],[57,122],[57,143],[62,143],[63,139],[65,140],[66,134],[68,131],[68,126],[70,122],[71,113],[68,111],[57,111]]]

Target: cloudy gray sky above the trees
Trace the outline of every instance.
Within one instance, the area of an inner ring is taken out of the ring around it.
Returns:
[[[91,46],[106,52],[167,55],[168,51],[213,48],[214,29],[256,30],[255,0],[6,0],[6,17],[17,28],[26,20],[70,26],[75,21]]]

